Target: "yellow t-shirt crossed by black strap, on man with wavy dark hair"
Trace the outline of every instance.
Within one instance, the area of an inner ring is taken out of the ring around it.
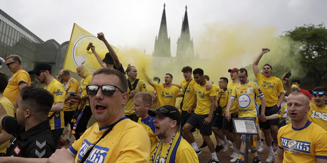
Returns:
[[[189,83],[187,85],[187,83]],[[181,108],[182,111],[187,111],[193,104],[193,102],[195,101],[196,97],[195,97],[195,92],[194,92],[194,85],[197,84],[197,82],[195,82],[195,80],[193,78],[191,78],[191,81],[186,82],[186,80],[182,80],[180,87],[181,87],[181,91],[184,93],[184,100],[183,100],[183,107]],[[185,87],[187,85],[186,91],[185,91]],[[193,109],[195,110],[195,108]]]

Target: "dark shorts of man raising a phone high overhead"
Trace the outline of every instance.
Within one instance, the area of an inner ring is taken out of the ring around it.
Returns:
[[[265,116],[276,114],[279,111],[279,108],[277,105],[266,107],[265,110]],[[261,113],[261,105],[259,107],[259,113]],[[264,130],[267,130],[270,128],[270,125],[279,125],[279,119],[273,119],[273,120],[267,120],[266,122],[259,121],[260,128],[263,128]]]

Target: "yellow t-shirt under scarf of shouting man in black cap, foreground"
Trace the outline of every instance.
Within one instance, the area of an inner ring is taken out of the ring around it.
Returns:
[[[159,163],[169,162],[169,160],[164,160],[164,158],[166,157],[166,153],[167,153],[169,144],[170,143],[163,143],[161,153],[160,153]],[[172,149],[170,149],[170,150],[172,150]],[[195,153],[193,147],[187,141],[185,141],[184,138],[181,138],[180,144],[177,147],[175,162],[176,163],[191,163],[191,162],[197,163],[197,162],[199,162],[198,156]]]

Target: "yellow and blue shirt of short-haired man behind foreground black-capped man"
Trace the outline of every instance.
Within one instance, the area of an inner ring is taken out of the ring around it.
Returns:
[[[149,158],[150,162],[152,161],[151,156],[153,156],[154,150],[156,149],[157,144],[159,142],[159,138],[155,134],[155,126],[154,126],[154,123],[153,123],[153,120],[155,118],[156,117],[148,116],[146,119],[139,118],[139,120],[137,121],[137,123],[141,124],[145,128],[145,130],[147,132],[147,135],[150,138],[150,144],[151,144],[151,155],[150,155],[150,158]]]

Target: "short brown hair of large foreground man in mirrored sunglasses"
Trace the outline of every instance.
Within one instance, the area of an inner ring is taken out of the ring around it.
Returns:
[[[128,87],[127,79],[126,79],[125,75],[123,73],[121,73],[120,71],[118,71],[116,69],[113,69],[113,68],[105,67],[105,68],[101,68],[101,69],[98,69],[98,70],[94,71],[93,74],[92,74],[93,78],[97,74],[108,74],[108,75],[115,74],[115,75],[117,75],[119,77],[119,80],[120,80],[119,88],[121,90],[123,90],[123,92],[127,92],[127,87]]]

